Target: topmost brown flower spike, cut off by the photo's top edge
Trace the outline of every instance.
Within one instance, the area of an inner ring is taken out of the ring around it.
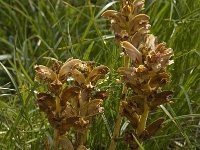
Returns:
[[[117,40],[128,40],[138,48],[149,32],[149,16],[142,13],[144,1],[121,0],[121,9],[107,10],[102,16],[111,20],[111,27]]]

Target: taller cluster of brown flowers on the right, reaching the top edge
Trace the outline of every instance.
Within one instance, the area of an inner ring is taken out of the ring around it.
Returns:
[[[169,102],[173,93],[162,91],[170,78],[166,67],[173,63],[170,60],[173,50],[166,48],[165,43],[157,43],[155,36],[149,33],[149,16],[142,13],[143,6],[143,0],[121,0],[119,12],[107,10],[103,13],[111,20],[116,40],[129,62],[118,72],[122,74],[121,81],[131,89],[131,94],[126,93],[121,102],[120,115],[125,116],[133,127],[124,134],[124,142],[133,149],[138,148],[134,137],[142,142],[159,129],[163,118],[146,127],[148,112]]]

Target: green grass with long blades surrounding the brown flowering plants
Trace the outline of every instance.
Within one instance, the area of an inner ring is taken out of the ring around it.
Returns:
[[[88,136],[91,150],[106,150],[110,142],[121,86],[114,69],[121,64],[120,48],[105,9],[111,0],[0,0],[0,149],[44,149],[53,130],[35,105],[33,66],[47,57],[94,60],[111,68],[101,85],[110,96]],[[200,1],[146,0],[151,31],[174,49],[175,63],[166,89],[174,90],[171,104],[151,112],[148,122],[165,117],[163,128],[143,146],[149,150],[200,149]],[[123,120],[121,132],[127,126]],[[126,149],[121,143],[117,149]]]

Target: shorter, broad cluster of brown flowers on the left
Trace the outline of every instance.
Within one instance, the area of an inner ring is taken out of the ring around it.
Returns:
[[[51,67],[35,66],[36,80],[47,85],[47,91],[38,94],[37,105],[57,131],[57,138],[72,128],[83,137],[91,120],[102,111],[100,104],[106,94],[97,91],[95,85],[109,69],[94,65],[79,59],[68,59],[65,63],[52,59]],[[80,137],[75,147],[84,147]]]

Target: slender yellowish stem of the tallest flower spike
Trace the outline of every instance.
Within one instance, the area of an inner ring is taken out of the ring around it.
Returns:
[[[124,67],[128,67],[129,58],[126,57],[126,56],[124,56],[123,57],[123,61],[124,61]],[[126,100],[126,93],[127,93],[127,87],[124,84],[123,85],[123,89],[122,89],[122,98],[121,98],[121,101]],[[114,128],[114,131],[113,131],[113,137],[111,139],[111,143],[110,143],[110,146],[109,146],[108,150],[115,150],[115,148],[116,148],[117,138],[119,137],[119,130],[120,130],[121,121],[122,121],[122,118],[123,118],[121,116],[122,109],[123,109],[122,106],[119,105],[119,111],[118,111],[118,114],[117,114],[117,120],[116,120],[115,128]]]

